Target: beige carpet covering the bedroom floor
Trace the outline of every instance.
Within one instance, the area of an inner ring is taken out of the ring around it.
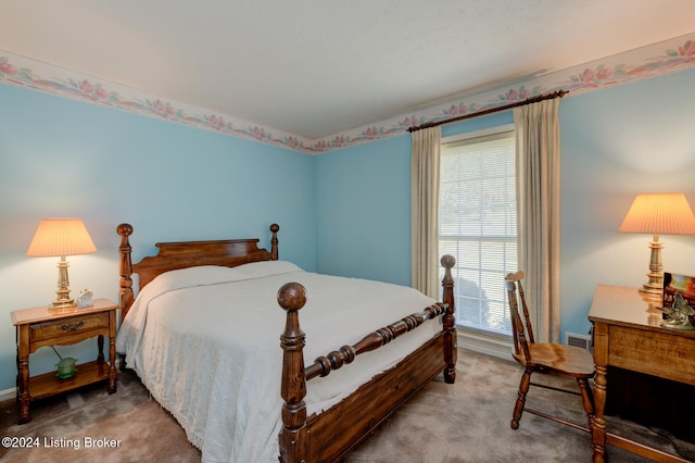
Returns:
[[[367,462],[589,462],[589,434],[525,414],[509,428],[519,366],[460,350],[455,385],[434,380],[354,449],[348,463]],[[311,387],[311,383],[309,383]],[[541,400],[542,399],[542,400]],[[543,403],[539,403],[542,401]],[[584,424],[580,399],[532,388],[529,406]],[[200,462],[200,452],[170,415],[150,399],[131,372],[118,392],[103,386],[33,404],[33,421],[16,424],[14,401],[0,404],[1,436],[29,437],[39,448],[0,447],[3,462]],[[695,460],[695,446],[630,422],[611,420],[610,430]],[[665,434],[665,433],[661,433]],[[666,435],[666,434],[665,434]],[[114,447],[103,447],[103,445]],[[46,446],[52,447],[46,447]],[[91,447],[87,447],[91,446]],[[98,447],[99,446],[99,447]],[[79,448],[76,448],[79,447]],[[691,453],[688,453],[691,452]],[[647,460],[608,448],[611,462]]]

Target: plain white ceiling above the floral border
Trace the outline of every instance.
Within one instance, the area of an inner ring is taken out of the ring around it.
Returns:
[[[0,50],[308,139],[695,32],[693,0],[8,0]]]

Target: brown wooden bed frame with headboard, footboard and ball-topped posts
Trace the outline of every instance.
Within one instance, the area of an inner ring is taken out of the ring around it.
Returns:
[[[118,225],[122,321],[135,300],[131,279],[134,273],[139,275],[138,286],[142,289],[155,276],[172,270],[198,265],[233,267],[250,262],[278,260],[279,229],[277,224],[270,225],[270,252],[257,247],[258,239],[160,242],[156,243],[157,255],[147,256],[132,264],[128,241],[132,226]],[[444,373],[446,383],[455,381],[457,347],[454,328],[454,279],[451,273],[455,261],[453,256],[444,255],[441,263],[445,268],[442,303],[438,302],[422,312],[377,329],[353,346],[343,346],[325,356],[319,356],[308,367],[304,367],[302,349],[305,339],[299,323],[299,310],[306,302],[306,291],[298,283],[289,283],[278,290],[278,303],[287,312],[286,328],[280,336],[283,351],[280,395],[285,401],[283,427],[279,436],[281,462],[339,461],[440,373]],[[316,376],[326,376],[343,364],[353,362],[356,355],[378,349],[437,316],[442,316],[443,329],[434,338],[395,367],[359,387],[340,403],[320,414],[306,416],[306,381]],[[121,366],[125,367],[123,358]]]

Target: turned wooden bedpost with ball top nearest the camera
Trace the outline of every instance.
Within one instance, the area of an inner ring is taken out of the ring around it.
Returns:
[[[304,376],[304,333],[300,328],[299,310],[306,303],[306,289],[299,283],[288,283],[278,291],[278,303],[287,312],[282,347],[282,430],[280,461],[305,462],[308,454],[306,428],[306,378]]]

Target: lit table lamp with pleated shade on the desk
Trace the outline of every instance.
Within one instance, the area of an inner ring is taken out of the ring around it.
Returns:
[[[637,195],[619,230],[654,235],[647,274],[649,280],[640,288],[640,291],[661,295],[664,267],[659,235],[695,235],[695,216],[683,193]]]

